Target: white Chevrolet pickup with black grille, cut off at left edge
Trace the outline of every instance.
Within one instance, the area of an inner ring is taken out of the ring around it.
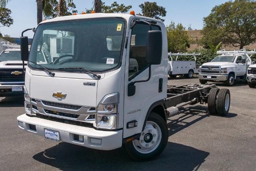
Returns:
[[[3,50],[0,54],[0,97],[22,95],[24,83],[20,49]]]

